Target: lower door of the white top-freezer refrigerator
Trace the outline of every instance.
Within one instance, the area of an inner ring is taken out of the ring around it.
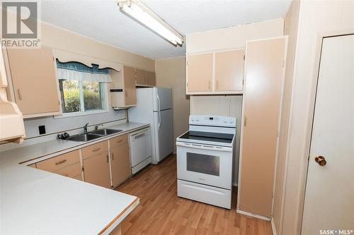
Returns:
[[[154,112],[156,163],[173,152],[172,110]]]

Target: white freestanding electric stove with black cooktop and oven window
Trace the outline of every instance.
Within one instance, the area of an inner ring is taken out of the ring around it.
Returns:
[[[179,197],[231,209],[236,118],[190,115],[176,139]]]

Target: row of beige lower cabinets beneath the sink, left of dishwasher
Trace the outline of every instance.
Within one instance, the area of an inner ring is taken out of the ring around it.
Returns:
[[[108,141],[110,148],[108,149]],[[80,152],[82,165],[80,162]],[[117,186],[131,175],[128,135],[28,165],[98,186]],[[82,174],[84,172],[84,174]],[[84,178],[83,178],[84,176]]]

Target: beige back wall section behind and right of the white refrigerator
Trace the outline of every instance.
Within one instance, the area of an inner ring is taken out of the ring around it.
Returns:
[[[155,73],[158,87],[172,88],[173,136],[176,140],[188,131],[189,97],[185,95],[185,56],[156,60]]]

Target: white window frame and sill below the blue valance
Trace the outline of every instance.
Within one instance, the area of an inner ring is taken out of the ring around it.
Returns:
[[[108,98],[108,84],[103,83],[103,82],[98,82],[101,83],[101,96],[103,97],[103,109],[96,109],[96,110],[89,110],[89,111],[79,111],[79,112],[70,112],[70,113],[64,113],[64,110],[62,108],[62,91],[59,88],[59,80],[58,80],[58,92],[59,92],[59,102],[60,102],[60,112],[61,114],[54,115],[53,117],[55,119],[64,119],[68,117],[73,117],[73,116],[84,116],[84,115],[91,115],[91,114],[103,114],[103,113],[108,113],[109,110],[109,98]],[[102,94],[103,93],[103,94]],[[79,81],[79,95],[80,95],[80,109],[84,110],[84,92],[82,91],[82,83]],[[82,100],[82,102],[81,102]]]

